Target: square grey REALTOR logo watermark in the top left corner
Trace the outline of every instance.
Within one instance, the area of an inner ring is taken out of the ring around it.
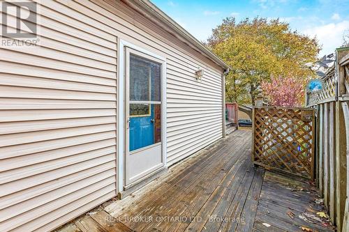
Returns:
[[[5,47],[38,45],[38,3],[27,0],[0,1],[1,41]]]

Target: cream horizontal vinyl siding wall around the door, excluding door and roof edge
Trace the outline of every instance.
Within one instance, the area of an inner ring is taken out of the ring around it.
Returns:
[[[118,39],[167,59],[168,166],[222,137],[218,65],[125,3],[36,2],[40,47],[0,48],[0,231],[50,231],[117,195]]]

